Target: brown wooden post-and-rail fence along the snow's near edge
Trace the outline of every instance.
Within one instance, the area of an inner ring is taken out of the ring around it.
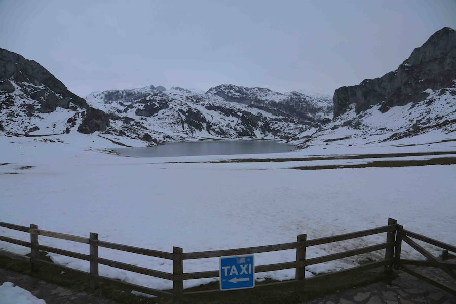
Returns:
[[[456,278],[454,275],[453,270],[455,269],[454,264],[449,264],[445,262],[438,261],[435,257],[429,254],[425,249],[421,246],[417,245],[414,241],[410,238],[416,238],[421,241],[430,243],[435,246],[439,246],[446,250],[450,250],[456,252],[456,247],[439,242],[437,240],[433,240],[431,238],[404,230],[401,225],[398,225],[396,220],[389,218],[388,224],[382,227],[376,227],[373,229],[341,234],[336,236],[324,237],[319,239],[312,239],[307,240],[307,236],[305,234],[298,235],[296,242],[291,243],[283,243],[283,244],[276,244],[276,245],[267,245],[267,246],[257,246],[257,247],[248,247],[248,248],[238,248],[238,249],[228,249],[228,250],[214,250],[214,251],[200,251],[200,252],[183,252],[183,249],[180,247],[173,247],[173,252],[164,252],[158,250],[151,250],[145,248],[138,248],[133,246],[115,244],[110,242],[105,242],[98,240],[98,234],[90,233],[89,238],[79,237],[74,235],[68,235],[58,232],[46,231],[41,230],[38,228],[37,225],[30,225],[30,227],[19,226],[9,223],[0,222],[1,227],[5,227],[8,229],[18,230],[27,232],[30,234],[30,242],[25,242],[5,236],[0,236],[0,241],[9,242],[25,247],[31,248],[30,257],[19,255],[13,252],[9,252],[6,250],[0,249],[0,255],[11,257],[13,259],[19,259],[31,264],[32,271],[36,271],[39,269],[40,264],[52,265],[53,267],[62,269],[62,270],[71,270],[74,272],[78,272],[80,274],[86,275],[90,281],[90,287],[95,289],[98,287],[99,281],[105,281],[112,284],[119,284],[123,287],[126,287],[131,290],[159,296],[159,297],[172,297],[175,302],[178,302],[183,296],[191,295],[191,294],[201,294],[201,293],[212,293],[212,292],[220,292],[219,289],[212,289],[212,290],[204,290],[204,291],[184,291],[183,290],[183,281],[184,280],[191,280],[191,279],[200,279],[200,278],[215,278],[219,276],[219,270],[213,271],[202,271],[202,272],[184,272],[183,269],[183,260],[188,259],[200,259],[200,258],[211,258],[211,257],[221,257],[221,256],[230,256],[230,255],[241,255],[241,254],[254,254],[254,253],[263,253],[263,252],[272,252],[272,251],[279,251],[279,250],[289,250],[295,249],[296,250],[296,260],[291,262],[282,262],[276,264],[268,264],[268,265],[257,265],[255,266],[255,273],[259,272],[267,272],[267,271],[276,271],[276,270],[284,270],[284,269],[295,269],[296,276],[294,280],[288,281],[281,281],[281,282],[273,282],[273,283],[265,283],[265,284],[258,284],[255,288],[261,287],[268,287],[273,285],[284,285],[284,284],[299,284],[305,283],[309,280],[315,280],[319,278],[327,278],[333,275],[338,275],[341,273],[351,273],[351,272],[360,272],[372,268],[377,267],[384,267],[386,272],[391,272],[393,266],[398,269],[401,268],[404,271],[417,276],[421,279],[423,275],[412,271],[407,265],[421,265],[421,266],[431,266],[431,267],[439,267],[447,274]],[[339,242],[344,240],[350,240],[354,238],[375,235],[380,233],[387,233],[387,237],[384,243],[375,244],[363,248],[357,248],[353,250],[348,250],[344,252],[329,254],[320,257],[314,257],[307,259],[306,258],[306,248],[322,245],[322,244],[329,244],[333,242]],[[82,254],[72,251],[67,251],[63,249],[53,248],[49,246],[44,246],[39,244],[38,236],[47,236],[52,238],[58,238],[73,242],[80,242],[89,245],[89,254]],[[410,246],[418,250],[420,253],[425,255],[430,261],[419,261],[419,260],[406,260],[400,258],[401,252],[401,244],[402,241],[407,242]],[[138,267],[136,265],[130,265],[127,263],[122,263],[118,261],[108,260],[104,258],[100,258],[98,256],[98,247],[116,249],[121,251],[132,252],[141,255],[147,255],[157,258],[169,259],[173,261],[173,272],[163,272],[143,267]],[[305,268],[309,265],[315,265],[319,263],[329,262],[341,258],[346,258],[350,256],[355,256],[359,254],[364,254],[368,252],[373,252],[377,250],[385,249],[385,258],[379,261],[370,262],[362,265],[358,265],[356,267],[352,267],[349,269],[332,272],[328,274],[317,275],[311,278],[304,278]],[[40,259],[39,251],[46,251],[52,252],[60,255],[65,255],[81,260],[89,261],[90,263],[90,272],[84,272],[80,270],[75,270],[72,268],[68,268],[62,265],[57,265],[52,262]],[[98,265],[103,264],[110,267],[123,269],[139,274],[149,275],[161,279],[166,279],[173,281],[173,289],[172,290],[158,290],[153,289],[145,286],[139,286],[127,282],[122,282],[119,280],[107,278],[104,276],[99,275],[98,273]],[[429,278],[426,278],[428,282],[434,284],[440,288],[443,288],[446,291],[456,294],[456,290],[452,289],[449,286],[443,285],[441,283],[435,282]],[[432,281],[432,282],[431,282]]]

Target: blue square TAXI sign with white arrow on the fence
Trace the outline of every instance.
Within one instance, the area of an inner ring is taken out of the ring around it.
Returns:
[[[220,257],[220,290],[255,287],[254,261],[253,255]]]

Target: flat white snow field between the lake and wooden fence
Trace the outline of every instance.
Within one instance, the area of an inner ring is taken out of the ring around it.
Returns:
[[[0,166],[0,173],[21,173],[0,174],[0,221],[26,226],[34,223],[45,230],[86,237],[89,232],[96,232],[100,240],[109,242],[167,252],[178,246],[184,252],[193,252],[293,242],[303,233],[308,239],[326,237],[383,226],[388,217],[393,217],[408,230],[456,243],[452,233],[456,228],[455,165],[295,170],[284,169],[290,167],[288,162],[164,164],[160,162],[214,157],[125,158],[95,151],[110,146],[102,139],[92,142],[93,137],[90,141],[87,138],[65,137],[71,144],[0,138],[4,151],[0,162],[9,163]],[[82,149],[83,146],[86,148]],[[389,148],[403,151],[397,149]],[[269,157],[302,157],[304,153]],[[220,158],[224,157],[217,156]],[[353,161],[360,160],[345,162]],[[334,161],[289,163],[302,166]],[[35,167],[14,169],[17,165]],[[0,228],[0,234],[29,240],[28,234],[8,229]],[[43,236],[39,240],[47,246],[89,252],[87,244]],[[386,234],[379,234],[309,247],[306,256],[313,258],[385,241]],[[28,248],[5,242],[0,242],[0,248],[21,254],[29,252]],[[436,248],[427,248],[434,254],[440,253]],[[99,254],[172,272],[171,260],[105,248],[100,248]],[[420,258],[405,244],[403,254]],[[52,253],[49,256],[56,263],[89,270],[86,261]],[[306,268],[306,276],[383,257],[381,250],[312,265]],[[255,260],[257,265],[293,261],[295,250],[255,254]],[[184,272],[217,269],[218,258],[184,261]],[[100,274],[158,289],[172,288],[171,281],[103,265]],[[294,269],[258,273],[256,277],[293,279]],[[214,280],[189,280],[184,287]]]

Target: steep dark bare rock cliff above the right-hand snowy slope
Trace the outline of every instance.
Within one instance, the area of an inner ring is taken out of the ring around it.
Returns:
[[[396,105],[420,101],[428,96],[423,93],[426,89],[451,87],[455,79],[456,31],[445,27],[414,49],[396,71],[335,90],[334,118],[345,113],[353,103],[359,113],[380,103],[380,110],[385,112]]]

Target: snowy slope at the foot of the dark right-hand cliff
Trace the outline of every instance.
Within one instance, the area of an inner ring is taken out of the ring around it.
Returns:
[[[291,143],[303,148],[315,145],[359,146],[424,134],[428,135],[429,142],[456,140],[456,87],[428,89],[424,93],[428,94],[426,99],[397,105],[386,112],[381,110],[381,104],[377,104],[357,113],[355,104],[352,104],[330,123],[302,132]]]

